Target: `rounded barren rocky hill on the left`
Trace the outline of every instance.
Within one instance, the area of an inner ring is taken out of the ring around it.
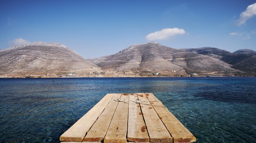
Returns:
[[[77,75],[99,67],[59,43],[35,42],[0,50],[0,76]]]

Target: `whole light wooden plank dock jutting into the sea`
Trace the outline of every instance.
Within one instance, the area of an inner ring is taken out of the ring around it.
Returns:
[[[145,103],[121,100],[146,101]],[[155,101],[154,101],[155,100]],[[107,94],[64,132],[62,143],[191,143],[195,137],[152,93]]]

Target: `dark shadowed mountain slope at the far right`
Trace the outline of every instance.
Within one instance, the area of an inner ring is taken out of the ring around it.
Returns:
[[[218,48],[203,47],[194,49],[183,49],[188,52],[204,54],[217,58],[221,61],[231,64],[232,68],[254,73],[256,72],[256,51],[250,49],[241,49],[236,52],[228,52]]]

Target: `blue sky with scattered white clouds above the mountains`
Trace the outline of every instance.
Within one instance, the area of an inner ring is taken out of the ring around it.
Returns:
[[[114,54],[150,41],[172,48],[256,50],[254,3],[256,0],[0,0],[0,49],[34,41],[57,42],[84,58]]]

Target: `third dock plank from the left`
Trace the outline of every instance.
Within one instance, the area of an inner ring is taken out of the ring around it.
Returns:
[[[129,94],[122,94],[122,100],[129,100]],[[128,106],[129,104],[119,102],[117,109],[108,128],[104,143],[126,143]]]

